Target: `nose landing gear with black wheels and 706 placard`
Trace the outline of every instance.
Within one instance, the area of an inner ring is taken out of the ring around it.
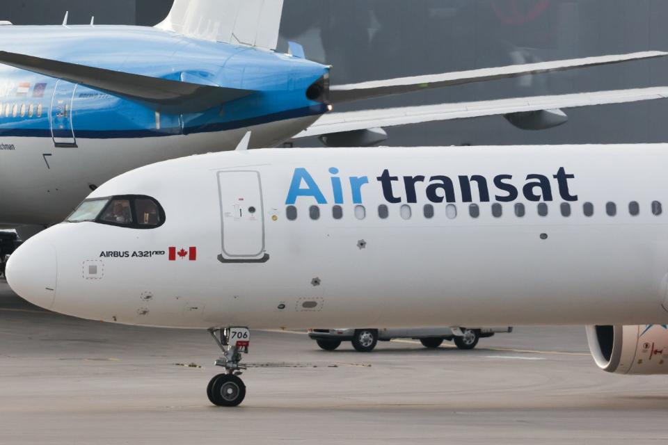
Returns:
[[[242,353],[248,354],[250,331],[248,327],[211,328],[209,334],[223,351],[216,366],[225,372],[214,376],[207,386],[209,401],[217,406],[237,406],[246,397],[246,385],[239,375],[246,366],[241,364]]]

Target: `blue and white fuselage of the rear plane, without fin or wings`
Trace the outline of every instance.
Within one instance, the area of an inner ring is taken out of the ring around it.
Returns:
[[[63,220],[122,172],[180,156],[273,147],[328,106],[308,88],[329,67],[139,26],[0,26],[0,51],[172,81],[250,90],[196,113],[0,65],[0,227]]]

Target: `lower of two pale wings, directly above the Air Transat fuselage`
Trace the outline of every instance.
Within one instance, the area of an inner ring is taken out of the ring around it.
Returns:
[[[440,120],[480,118],[482,116],[509,115],[530,111],[578,108],[605,104],[624,104],[646,100],[668,98],[668,87],[640,88],[635,90],[613,90],[582,92],[573,95],[518,97],[481,102],[460,102],[385,108],[379,110],[331,113],[322,116],[315,124],[299,133],[295,138],[323,136],[378,127],[396,127]]]

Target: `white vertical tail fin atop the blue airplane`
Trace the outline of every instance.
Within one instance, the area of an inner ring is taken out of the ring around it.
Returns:
[[[175,0],[157,25],[189,37],[276,49],[283,0]]]

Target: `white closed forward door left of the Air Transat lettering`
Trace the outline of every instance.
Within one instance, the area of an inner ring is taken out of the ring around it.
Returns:
[[[223,263],[263,263],[264,204],[260,172],[218,172]]]

